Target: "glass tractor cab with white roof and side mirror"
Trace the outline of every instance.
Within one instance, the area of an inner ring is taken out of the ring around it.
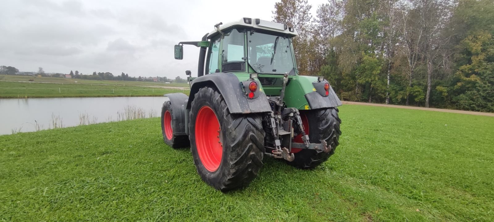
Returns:
[[[213,73],[297,74],[291,44],[291,38],[297,36],[297,32],[293,27],[242,18],[225,25],[218,23],[214,28],[201,42],[180,42],[175,46],[175,58],[181,59],[181,45],[207,45],[205,55],[199,58],[198,69],[201,71],[198,76]],[[204,63],[203,73],[201,64]]]

